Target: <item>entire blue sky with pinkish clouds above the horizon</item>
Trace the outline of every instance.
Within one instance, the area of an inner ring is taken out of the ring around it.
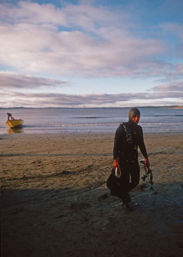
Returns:
[[[1,0],[0,107],[183,105],[182,0]]]

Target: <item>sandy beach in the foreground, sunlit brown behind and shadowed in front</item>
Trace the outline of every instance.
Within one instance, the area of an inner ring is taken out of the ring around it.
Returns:
[[[106,187],[114,133],[0,135],[1,256],[182,256],[183,134],[144,141],[154,185],[128,212]]]

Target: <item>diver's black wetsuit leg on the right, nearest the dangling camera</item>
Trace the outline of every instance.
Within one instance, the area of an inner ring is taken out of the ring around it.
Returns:
[[[130,163],[129,166],[130,166],[130,177],[131,177],[131,181],[129,184],[129,191],[130,191],[139,184],[140,167],[139,167],[138,161],[134,161]]]

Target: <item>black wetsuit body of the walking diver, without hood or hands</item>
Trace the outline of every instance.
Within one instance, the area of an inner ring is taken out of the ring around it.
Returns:
[[[130,128],[133,143],[127,142],[124,124],[127,124],[128,128]],[[144,158],[148,158],[148,155],[144,144],[142,127],[130,122],[130,118],[124,124],[120,124],[116,130],[113,149],[114,159],[118,159],[122,174],[121,178],[118,179],[120,189],[119,187],[114,188],[114,190],[111,190],[111,195],[118,196],[125,201],[127,193],[139,184],[138,147]]]

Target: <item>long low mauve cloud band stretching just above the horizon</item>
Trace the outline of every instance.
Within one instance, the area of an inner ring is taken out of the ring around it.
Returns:
[[[166,90],[166,85],[157,86],[151,89],[150,92],[138,92],[138,93],[120,93],[120,94],[60,94],[60,93],[23,93],[23,92],[9,92],[2,91],[2,97],[9,95],[9,106],[12,106],[11,99],[15,99],[18,106],[27,107],[105,107],[105,106],[128,106],[134,105],[134,103],[151,103],[157,102],[171,102],[170,99],[177,99],[177,102],[181,104],[183,100],[183,91],[180,87],[169,87],[169,91]],[[7,98],[8,99],[8,98]],[[169,100],[167,100],[169,99]],[[39,103],[39,104],[38,104]],[[137,104],[136,104],[137,105]],[[141,104],[143,105],[143,104]],[[15,106],[15,102],[13,102]],[[13,107],[12,106],[12,107]]]

